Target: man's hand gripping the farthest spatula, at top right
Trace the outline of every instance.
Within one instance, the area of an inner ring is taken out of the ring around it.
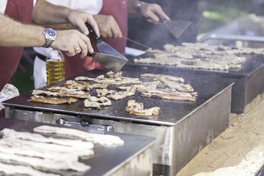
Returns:
[[[158,24],[159,18],[170,20],[169,17],[162,11],[161,7],[157,4],[144,3],[138,8],[141,14],[147,19],[148,22]]]

